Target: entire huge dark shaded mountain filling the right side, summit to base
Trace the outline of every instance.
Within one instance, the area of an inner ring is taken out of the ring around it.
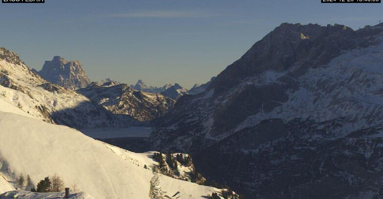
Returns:
[[[161,150],[257,199],[382,198],[383,23],[284,23],[159,122]]]

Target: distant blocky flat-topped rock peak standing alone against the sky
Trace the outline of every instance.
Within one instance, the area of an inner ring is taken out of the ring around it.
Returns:
[[[67,61],[59,56],[53,57],[51,61],[45,61],[38,73],[45,80],[72,90],[90,84],[80,61]]]

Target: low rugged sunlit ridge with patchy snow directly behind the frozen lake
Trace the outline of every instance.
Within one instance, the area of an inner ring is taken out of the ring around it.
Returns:
[[[136,91],[127,84],[97,85],[91,83],[77,92],[118,115],[129,115],[139,121],[149,121],[163,116],[172,109],[175,100],[161,94]]]

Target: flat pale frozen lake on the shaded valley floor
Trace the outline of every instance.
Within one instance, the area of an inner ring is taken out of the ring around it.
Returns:
[[[148,126],[130,126],[127,128],[83,129],[83,134],[94,139],[107,138],[149,138],[154,128]]]

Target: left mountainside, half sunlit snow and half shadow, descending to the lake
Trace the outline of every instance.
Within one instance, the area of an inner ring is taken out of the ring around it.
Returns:
[[[44,80],[5,48],[0,48],[0,99],[27,115],[73,128],[125,125],[83,95]]]

